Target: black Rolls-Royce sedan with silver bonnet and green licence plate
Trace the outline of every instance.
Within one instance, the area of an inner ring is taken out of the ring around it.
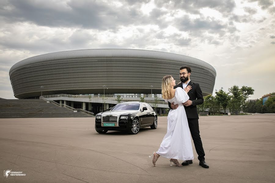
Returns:
[[[158,127],[158,118],[152,107],[145,102],[119,103],[109,111],[98,113],[95,120],[97,133],[128,131],[137,134],[141,128]]]

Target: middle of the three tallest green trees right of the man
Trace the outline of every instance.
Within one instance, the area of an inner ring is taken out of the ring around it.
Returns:
[[[232,86],[231,88],[228,88],[228,90],[231,94],[232,109],[235,112],[235,114],[239,114],[239,110],[243,102],[242,92],[236,85]]]

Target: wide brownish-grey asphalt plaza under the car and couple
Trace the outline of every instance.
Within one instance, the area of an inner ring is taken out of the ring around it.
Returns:
[[[95,118],[0,119],[0,182],[275,182],[275,116],[200,117],[205,160],[170,166],[160,157],[156,167],[149,155],[157,151],[167,130],[137,135],[94,130]],[[180,161],[181,163],[181,161]],[[25,176],[4,176],[5,170]]]

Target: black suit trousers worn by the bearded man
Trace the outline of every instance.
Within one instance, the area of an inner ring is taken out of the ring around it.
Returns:
[[[198,154],[198,159],[204,160],[204,148],[202,146],[202,142],[200,139],[200,130],[199,130],[199,120],[198,119],[191,119],[187,118],[189,129],[191,132],[191,136],[193,138],[193,142],[196,148],[196,152]]]

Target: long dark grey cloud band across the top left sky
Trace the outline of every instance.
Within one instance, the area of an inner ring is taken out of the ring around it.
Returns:
[[[49,27],[86,27],[94,29],[115,29],[133,23],[146,23],[136,6],[122,7],[88,0],[68,1],[16,1],[10,0],[0,8],[0,16],[6,22],[32,22]]]

